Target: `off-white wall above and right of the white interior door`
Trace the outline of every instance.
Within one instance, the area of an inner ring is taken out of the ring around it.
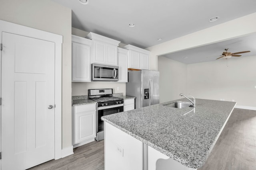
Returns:
[[[63,35],[62,148],[70,147],[72,145],[71,9],[50,0],[1,0],[0,20]]]

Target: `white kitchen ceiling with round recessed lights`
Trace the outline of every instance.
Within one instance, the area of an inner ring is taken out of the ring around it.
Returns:
[[[87,5],[78,0],[52,1],[72,9],[72,27],[141,48],[256,12],[256,0],[89,0]],[[217,21],[209,21],[216,16]]]

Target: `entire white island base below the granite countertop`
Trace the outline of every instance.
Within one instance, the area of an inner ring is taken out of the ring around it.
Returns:
[[[106,122],[104,133],[105,170],[196,170]]]

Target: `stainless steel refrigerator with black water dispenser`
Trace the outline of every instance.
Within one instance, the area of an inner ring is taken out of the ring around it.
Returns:
[[[136,109],[159,104],[159,72],[153,70],[128,72],[126,96],[136,97]]]

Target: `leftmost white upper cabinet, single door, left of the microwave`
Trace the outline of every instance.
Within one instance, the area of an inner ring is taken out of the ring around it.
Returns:
[[[72,81],[90,82],[92,40],[72,35]]]

